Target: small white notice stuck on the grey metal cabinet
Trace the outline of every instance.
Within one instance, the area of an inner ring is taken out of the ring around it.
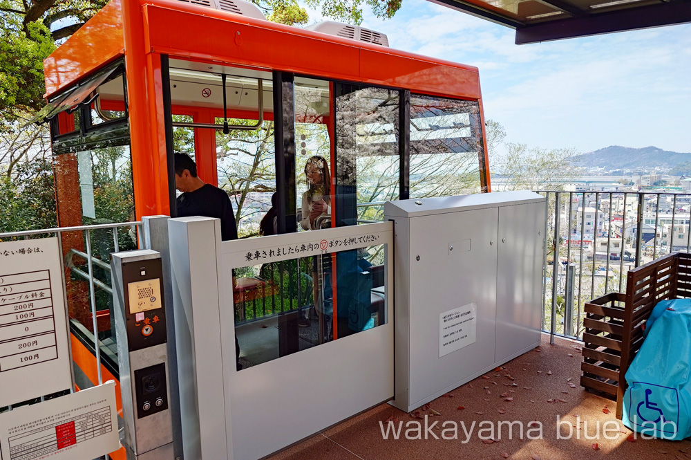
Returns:
[[[476,333],[475,302],[439,313],[439,358],[475,343]]]

